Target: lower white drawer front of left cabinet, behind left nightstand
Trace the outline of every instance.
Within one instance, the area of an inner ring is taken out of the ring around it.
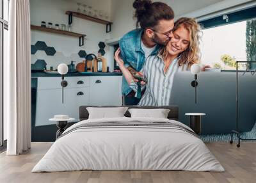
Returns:
[[[83,93],[83,95],[77,94]],[[79,106],[89,104],[88,88],[65,88],[64,104],[62,104],[62,90],[38,90],[36,99],[36,125],[47,125],[49,118],[54,115],[69,115],[79,119]]]

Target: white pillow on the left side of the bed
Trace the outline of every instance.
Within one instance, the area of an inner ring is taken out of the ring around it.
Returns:
[[[89,118],[120,118],[125,117],[124,114],[128,107],[86,107]]]

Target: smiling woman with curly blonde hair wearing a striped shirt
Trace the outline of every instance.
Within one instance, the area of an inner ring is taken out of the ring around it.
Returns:
[[[155,56],[145,61],[140,75],[147,81],[145,94],[139,106],[168,106],[171,104],[173,77],[176,72],[189,70],[200,61],[200,26],[195,19],[180,18],[175,22],[171,40]],[[127,83],[137,92],[132,74],[116,51],[115,60],[120,65]]]

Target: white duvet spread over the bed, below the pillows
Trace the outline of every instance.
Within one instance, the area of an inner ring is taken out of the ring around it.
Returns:
[[[189,132],[167,127],[95,127],[92,122],[172,122],[163,118],[84,120],[56,140],[32,172],[72,170],[225,171],[204,142]],[[69,133],[68,133],[69,131]]]

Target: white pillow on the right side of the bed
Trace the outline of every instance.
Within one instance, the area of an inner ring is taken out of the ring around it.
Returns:
[[[131,118],[150,117],[150,118],[167,118],[170,109],[128,109]]]

